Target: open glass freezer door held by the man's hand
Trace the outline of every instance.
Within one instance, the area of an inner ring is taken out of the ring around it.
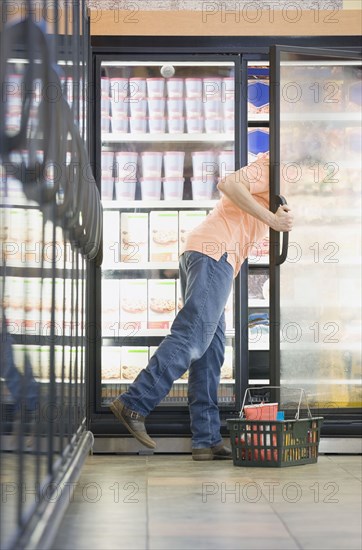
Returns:
[[[271,243],[273,383],[303,387],[316,409],[351,410],[361,407],[361,60],[275,47],[271,77],[272,197],[294,214],[280,269],[279,235]]]

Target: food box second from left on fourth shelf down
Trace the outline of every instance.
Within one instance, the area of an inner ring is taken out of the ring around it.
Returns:
[[[120,335],[137,336],[147,328],[147,280],[120,281]]]

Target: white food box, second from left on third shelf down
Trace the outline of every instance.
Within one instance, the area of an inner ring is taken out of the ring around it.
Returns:
[[[121,213],[121,262],[137,264],[148,261],[147,212]]]

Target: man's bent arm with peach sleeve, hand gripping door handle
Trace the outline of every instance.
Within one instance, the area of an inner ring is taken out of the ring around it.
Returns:
[[[226,176],[220,180],[217,187],[238,208],[275,231],[290,231],[293,225],[290,208],[287,205],[281,206],[275,214],[264,208],[250,193],[251,180],[257,180],[261,188],[268,188],[269,162],[266,156]]]

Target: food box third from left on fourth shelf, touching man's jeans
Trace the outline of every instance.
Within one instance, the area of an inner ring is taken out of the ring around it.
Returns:
[[[175,318],[175,279],[148,281],[148,328],[169,329]]]

